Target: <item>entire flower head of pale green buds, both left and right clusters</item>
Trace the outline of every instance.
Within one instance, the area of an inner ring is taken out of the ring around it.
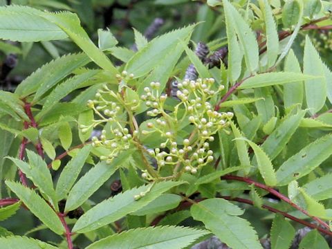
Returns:
[[[127,73],[122,73],[122,76],[133,77]],[[123,94],[103,86],[96,93],[95,100],[88,101],[88,107],[99,117],[91,126],[103,125],[102,135],[100,138],[93,137],[92,145],[109,149],[109,154],[100,156],[100,159],[111,163],[120,151],[129,149],[135,142],[140,143],[141,136],[159,133],[159,147],[149,148],[140,144],[149,156],[156,160],[157,171],[160,172],[160,169],[167,165],[174,169],[172,177],[181,172],[196,174],[201,167],[214,160],[210,142],[214,141],[217,131],[229,126],[229,120],[233,116],[230,112],[214,111],[210,103],[224,86],[216,86],[213,78],[184,80],[178,84],[176,96],[179,102],[172,111],[165,109],[167,94],[163,94],[160,88],[159,82],[151,82],[150,87],[145,87],[145,93],[140,99],[149,108],[146,114],[151,120],[147,120],[145,126],[141,125],[140,129],[137,129],[137,125],[129,123],[133,118],[128,118],[127,121],[127,116],[133,116],[133,104],[136,104],[136,109],[141,103],[127,103]],[[126,111],[127,114],[124,114]],[[91,126],[80,128],[84,132]],[[178,134],[185,126],[190,127],[191,131],[187,138]],[[147,170],[143,170],[142,177],[149,181],[154,179]]]

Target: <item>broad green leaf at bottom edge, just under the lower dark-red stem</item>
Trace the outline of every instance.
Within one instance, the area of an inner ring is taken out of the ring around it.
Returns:
[[[246,219],[237,217],[243,214],[237,205],[224,199],[208,199],[192,205],[192,216],[202,221],[205,228],[213,232],[227,246],[237,249],[259,249],[255,230]]]

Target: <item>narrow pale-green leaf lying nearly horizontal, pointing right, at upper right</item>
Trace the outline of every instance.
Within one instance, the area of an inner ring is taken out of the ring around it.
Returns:
[[[274,86],[277,84],[293,83],[302,80],[314,80],[320,77],[322,77],[322,75],[303,75],[302,73],[293,72],[261,73],[253,77],[249,77],[243,82],[243,84],[241,84],[241,86],[239,86],[239,89]]]

